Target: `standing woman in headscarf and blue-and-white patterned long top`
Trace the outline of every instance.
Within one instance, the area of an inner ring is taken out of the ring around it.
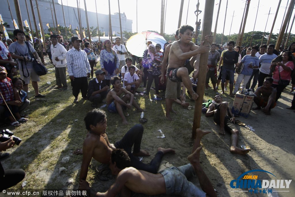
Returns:
[[[100,52],[100,67],[106,74],[104,79],[106,85],[110,87],[111,78],[116,76],[120,69],[119,57],[112,49],[112,42],[110,40],[105,40]]]

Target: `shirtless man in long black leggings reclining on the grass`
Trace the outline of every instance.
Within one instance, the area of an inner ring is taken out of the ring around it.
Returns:
[[[115,144],[109,143],[106,135],[106,114],[100,109],[93,109],[88,112],[84,118],[86,129],[88,130],[86,139],[83,143],[83,149],[74,151],[74,154],[83,154],[83,161],[80,171],[80,180],[86,180],[91,159],[109,164],[112,150],[123,148],[131,160],[131,166],[136,169],[145,170],[151,173],[157,173],[161,159],[166,153],[175,153],[171,148],[158,148],[154,159],[150,164],[144,164],[139,161],[137,156],[150,156],[147,151],[140,149],[143,127],[140,124],[133,126],[122,138]],[[134,146],[133,146],[134,145]],[[133,152],[131,152],[133,146]]]

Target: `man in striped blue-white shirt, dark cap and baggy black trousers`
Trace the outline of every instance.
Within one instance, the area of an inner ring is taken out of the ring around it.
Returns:
[[[87,77],[90,76],[90,64],[87,54],[84,50],[80,49],[82,40],[77,36],[73,36],[71,43],[73,48],[68,50],[66,60],[68,63],[68,73],[71,80],[72,92],[75,96],[74,103],[78,103],[78,95],[81,91],[82,98],[87,99],[88,81]]]

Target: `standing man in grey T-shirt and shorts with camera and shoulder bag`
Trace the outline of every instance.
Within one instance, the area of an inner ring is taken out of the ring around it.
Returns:
[[[39,93],[38,81],[40,76],[33,69],[33,60],[37,59],[37,62],[42,64],[41,59],[34,47],[25,42],[25,33],[20,29],[13,31],[13,35],[17,38],[17,42],[11,43],[9,46],[9,52],[12,58],[19,59],[19,74],[21,78],[26,82],[23,90],[28,92],[28,84],[32,80],[32,86],[35,90],[35,97],[44,98],[45,96]],[[33,56],[30,56],[30,51]],[[43,64],[42,64],[43,65]]]

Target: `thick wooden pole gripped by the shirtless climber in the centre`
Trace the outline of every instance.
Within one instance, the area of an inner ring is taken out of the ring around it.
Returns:
[[[205,36],[211,34],[213,10],[214,10],[214,0],[205,1],[204,24],[206,25],[203,25],[204,33],[202,36],[202,41],[204,41],[204,44],[210,44],[205,40]],[[192,138],[196,138],[196,129],[200,128],[200,125],[201,125],[202,113],[200,112],[202,110],[204,87],[205,87],[205,80],[206,80],[206,75],[204,75],[203,73],[207,72],[207,62],[208,62],[208,53],[201,54],[200,61],[199,61],[198,88],[196,92],[199,95],[199,98],[195,102],[194,123],[193,123],[192,135],[191,135]]]

